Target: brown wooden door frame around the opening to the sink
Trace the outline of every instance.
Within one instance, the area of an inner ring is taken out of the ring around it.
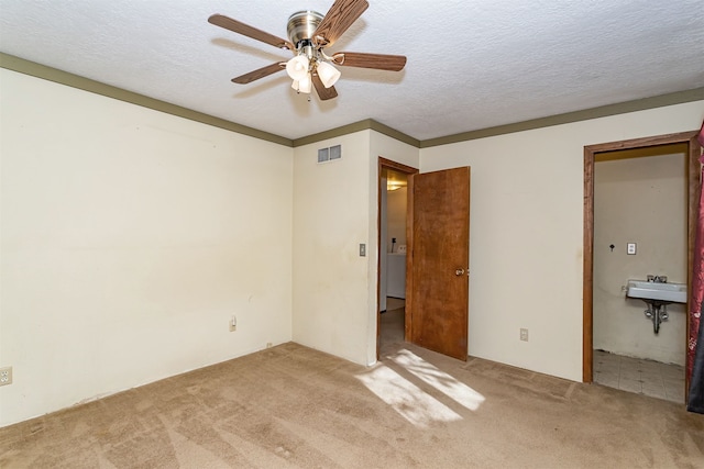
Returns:
[[[584,146],[584,276],[582,301],[582,381],[593,381],[593,346],[594,346],[594,158],[597,153],[620,149],[646,148],[669,144],[688,145],[688,291],[692,291],[692,264],[694,253],[694,234],[696,230],[696,212],[700,199],[700,156],[701,145],[696,139],[700,131],[680,132],[675,134],[658,135],[645,138],[634,138]],[[686,303],[686,343],[690,335],[690,299]],[[686,379],[686,390],[690,388]],[[685,392],[686,392],[685,390]]]

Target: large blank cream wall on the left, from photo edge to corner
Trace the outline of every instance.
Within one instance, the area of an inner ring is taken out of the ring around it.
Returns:
[[[0,425],[290,340],[290,148],[0,82]]]

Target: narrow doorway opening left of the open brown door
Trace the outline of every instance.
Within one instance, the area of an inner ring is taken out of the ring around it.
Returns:
[[[418,169],[378,158],[378,279],[376,358],[382,347],[405,339],[408,176]]]

